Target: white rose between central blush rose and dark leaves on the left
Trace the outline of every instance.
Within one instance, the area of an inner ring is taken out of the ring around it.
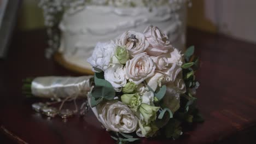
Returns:
[[[110,82],[115,91],[118,92],[121,91],[121,87],[126,85],[126,78],[122,64],[110,64],[104,71],[104,78]]]

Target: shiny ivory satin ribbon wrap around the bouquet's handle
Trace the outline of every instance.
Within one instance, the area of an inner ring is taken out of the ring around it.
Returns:
[[[93,76],[37,77],[32,81],[31,92],[40,98],[87,97],[90,92],[90,78]]]

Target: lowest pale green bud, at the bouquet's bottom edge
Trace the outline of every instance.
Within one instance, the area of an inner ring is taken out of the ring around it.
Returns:
[[[158,131],[158,127],[154,123],[146,124],[139,121],[139,128],[141,128],[142,135],[146,137],[153,137],[156,131]]]

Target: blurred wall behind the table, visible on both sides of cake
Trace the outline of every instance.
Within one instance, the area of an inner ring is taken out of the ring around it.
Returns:
[[[256,43],[255,0],[191,0],[188,26],[212,33],[223,33]],[[19,13],[19,29],[43,28],[38,0],[23,0]]]

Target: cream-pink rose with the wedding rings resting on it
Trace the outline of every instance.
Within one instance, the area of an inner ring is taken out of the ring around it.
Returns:
[[[135,35],[136,39],[138,40],[135,44],[134,41],[127,40],[131,35]],[[133,32],[133,31],[127,31],[123,33],[116,41],[115,43],[117,45],[126,45],[126,49],[129,52],[130,57],[133,57],[135,55],[138,55],[139,53],[144,52],[147,47],[149,46],[148,41],[146,40],[144,34]]]

